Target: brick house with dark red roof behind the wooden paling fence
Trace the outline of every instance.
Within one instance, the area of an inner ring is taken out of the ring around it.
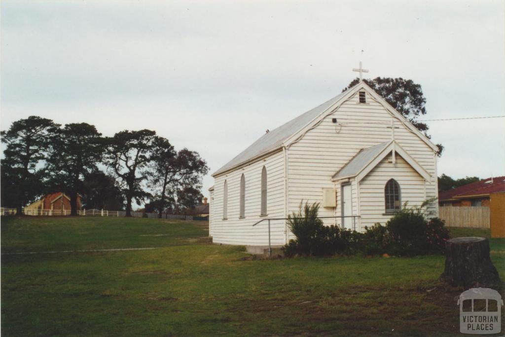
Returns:
[[[505,192],[505,176],[491,177],[439,192],[438,203],[439,206],[489,207],[489,196],[499,192]]]

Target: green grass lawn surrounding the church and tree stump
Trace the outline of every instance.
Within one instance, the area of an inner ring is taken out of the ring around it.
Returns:
[[[442,256],[246,260],[243,247],[210,244],[206,225],[2,218],[2,253],[161,247],[3,254],[2,333],[459,335],[455,296],[462,290],[437,281]],[[489,236],[476,229],[451,233]],[[490,245],[505,280],[505,239]]]

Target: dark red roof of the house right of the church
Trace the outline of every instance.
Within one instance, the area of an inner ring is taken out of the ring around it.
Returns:
[[[472,196],[487,196],[495,192],[505,192],[505,176],[487,178],[440,192],[438,199],[439,201],[444,201]]]

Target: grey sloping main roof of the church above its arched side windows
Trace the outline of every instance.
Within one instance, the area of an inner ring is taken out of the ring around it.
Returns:
[[[348,91],[344,91],[335,96],[331,100],[321,104],[320,106],[307,111],[306,113],[290,120],[289,122],[279,126],[278,128],[265,133],[260,139],[256,140],[247,149],[238,154],[235,158],[230,160],[226,165],[214,172],[213,175],[222,173],[234,166],[240,165],[251,158],[268,153],[272,150],[280,148],[284,140],[298,132],[301,128],[309,124],[314,118],[322,114],[326,109],[335,104],[343,95]]]

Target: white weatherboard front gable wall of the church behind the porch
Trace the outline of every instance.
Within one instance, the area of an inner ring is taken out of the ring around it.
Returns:
[[[391,140],[391,119],[394,117],[367,92],[367,103],[359,103],[358,92],[336,111],[288,148],[288,213],[298,210],[301,200],[323,201],[323,187],[334,187],[331,177],[361,149]],[[337,123],[332,122],[337,119]],[[394,138],[432,176],[426,183],[426,197],[437,197],[436,157],[433,150],[398,119],[394,118]],[[338,124],[341,124],[339,126]],[[358,215],[356,183],[352,184],[353,214]],[[422,188],[424,194],[424,186]],[[341,191],[336,184],[336,208],[320,209],[321,216],[340,215]],[[438,215],[438,205],[429,210]],[[381,213],[382,214],[382,213]],[[326,224],[333,224],[326,219]],[[340,224],[340,219],[336,219]]]

